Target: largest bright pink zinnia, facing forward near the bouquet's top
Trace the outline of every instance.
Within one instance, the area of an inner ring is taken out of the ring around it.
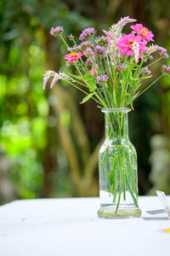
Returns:
[[[133,55],[133,43],[137,42],[139,44],[139,52],[143,53],[145,50],[145,45],[142,42],[142,38],[139,36],[134,36],[133,34],[129,34],[126,36],[122,36],[122,38],[117,40],[116,47],[120,50],[122,55]]]

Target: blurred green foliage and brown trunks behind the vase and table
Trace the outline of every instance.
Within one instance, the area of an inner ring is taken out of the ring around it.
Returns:
[[[65,46],[50,37],[50,28],[64,26],[65,35],[78,37],[88,26],[107,30],[128,15],[170,53],[169,9],[169,0],[1,0],[0,204],[99,195],[104,116],[92,101],[79,104],[82,94],[68,84],[42,90],[42,74],[65,65]],[[154,76],[162,63],[152,68]],[[170,193],[170,77],[134,108],[129,133],[138,152],[139,194]]]

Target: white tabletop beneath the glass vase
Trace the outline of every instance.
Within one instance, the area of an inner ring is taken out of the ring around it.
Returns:
[[[139,207],[143,218],[100,219],[99,198],[13,201],[0,207],[0,256],[170,255],[166,213],[145,212],[161,209],[158,197]]]

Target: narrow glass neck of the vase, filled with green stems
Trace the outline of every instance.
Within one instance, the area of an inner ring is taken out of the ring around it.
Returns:
[[[105,138],[128,139],[127,111],[105,112]]]

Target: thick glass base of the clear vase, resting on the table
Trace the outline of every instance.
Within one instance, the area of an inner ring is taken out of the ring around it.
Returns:
[[[100,207],[98,211],[99,218],[140,218],[141,211],[137,207]]]

